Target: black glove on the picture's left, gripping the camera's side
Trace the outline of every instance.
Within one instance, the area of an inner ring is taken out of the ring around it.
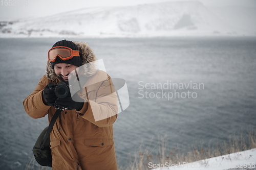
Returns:
[[[46,103],[49,106],[54,106],[54,102],[57,99],[57,96],[54,93],[54,84],[50,82],[48,85],[45,86],[44,92],[42,93],[42,96],[44,97]]]

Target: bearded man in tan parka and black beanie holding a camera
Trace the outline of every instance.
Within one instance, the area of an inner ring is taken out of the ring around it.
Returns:
[[[49,122],[56,108],[65,108],[50,133],[52,169],[117,170],[113,123],[118,99],[111,78],[91,64],[84,67],[87,81],[81,94],[75,93],[82,102],[72,100],[71,95],[57,98],[54,92],[54,85],[69,83],[73,70],[94,61],[96,57],[87,43],[56,42],[48,52],[46,75],[23,102],[29,116],[48,114]]]

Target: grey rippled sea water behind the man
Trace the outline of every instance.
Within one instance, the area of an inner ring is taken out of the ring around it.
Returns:
[[[25,169],[48,124],[47,117],[29,117],[22,102],[45,74],[47,52],[58,40],[0,39],[0,169]],[[169,148],[187,149],[256,129],[256,38],[72,40],[89,42],[109,75],[126,80],[130,106],[114,124],[120,165],[142,143],[155,149],[159,136]]]

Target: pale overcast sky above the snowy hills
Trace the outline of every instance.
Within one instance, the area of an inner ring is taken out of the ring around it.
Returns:
[[[7,4],[9,1],[10,4]],[[0,2],[1,19],[19,19],[27,17],[44,17],[76,9],[99,6],[133,6],[138,4],[151,4],[166,2],[168,0],[19,0],[26,5],[13,4],[15,0]],[[183,0],[169,0],[183,1]],[[195,1],[195,0],[186,0]],[[200,0],[205,6],[244,5],[256,6],[256,0]],[[15,6],[13,6],[15,5]]]

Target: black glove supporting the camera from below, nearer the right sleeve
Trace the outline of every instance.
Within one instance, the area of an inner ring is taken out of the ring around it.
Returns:
[[[55,101],[55,106],[57,108],[63,108],[67,110],[81,110],[83,107],[83,102],[75,102],[72,100],[71,96],[67,96],[66,98],[60,99],[58,98]]]

